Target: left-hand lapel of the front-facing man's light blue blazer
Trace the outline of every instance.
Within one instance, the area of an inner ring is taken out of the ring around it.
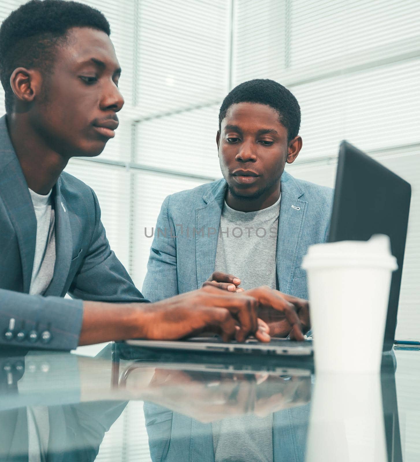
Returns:
[[[198,288],[214,271],[225,191],[225,180],[214,183],[203,196],[206,205],[195,210],[195,261]]]

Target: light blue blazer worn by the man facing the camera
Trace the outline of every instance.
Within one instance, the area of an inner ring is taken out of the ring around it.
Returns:
[[[146,298],[154,302],[195,290],[213,273],[226,188],[221,179],[164,200],[143,284]],[[308,246],[327,239],[333,190],[287,172],[280,188],[277,285],[281,292],[308,298],[302,257]]]

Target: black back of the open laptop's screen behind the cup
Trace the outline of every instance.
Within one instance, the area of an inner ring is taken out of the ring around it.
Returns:
[[[382,164],[342,141],[335,179],[329,242],[390,237],[398,269],[391,280],[384,351],[392,348],[407,237],[411,186]]]

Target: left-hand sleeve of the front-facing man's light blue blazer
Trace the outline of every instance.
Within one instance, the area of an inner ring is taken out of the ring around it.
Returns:
[[[178,295],[177,244],[169,210],[170,196],[166,197],[160,209],[142,288],[151,302]]]

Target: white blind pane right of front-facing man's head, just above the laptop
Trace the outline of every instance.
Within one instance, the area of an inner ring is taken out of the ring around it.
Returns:
[[[302,112],[297,161],[337,155],[343,139],[365,151],[420,143],[419,79],[420,59],[289,85]]]

